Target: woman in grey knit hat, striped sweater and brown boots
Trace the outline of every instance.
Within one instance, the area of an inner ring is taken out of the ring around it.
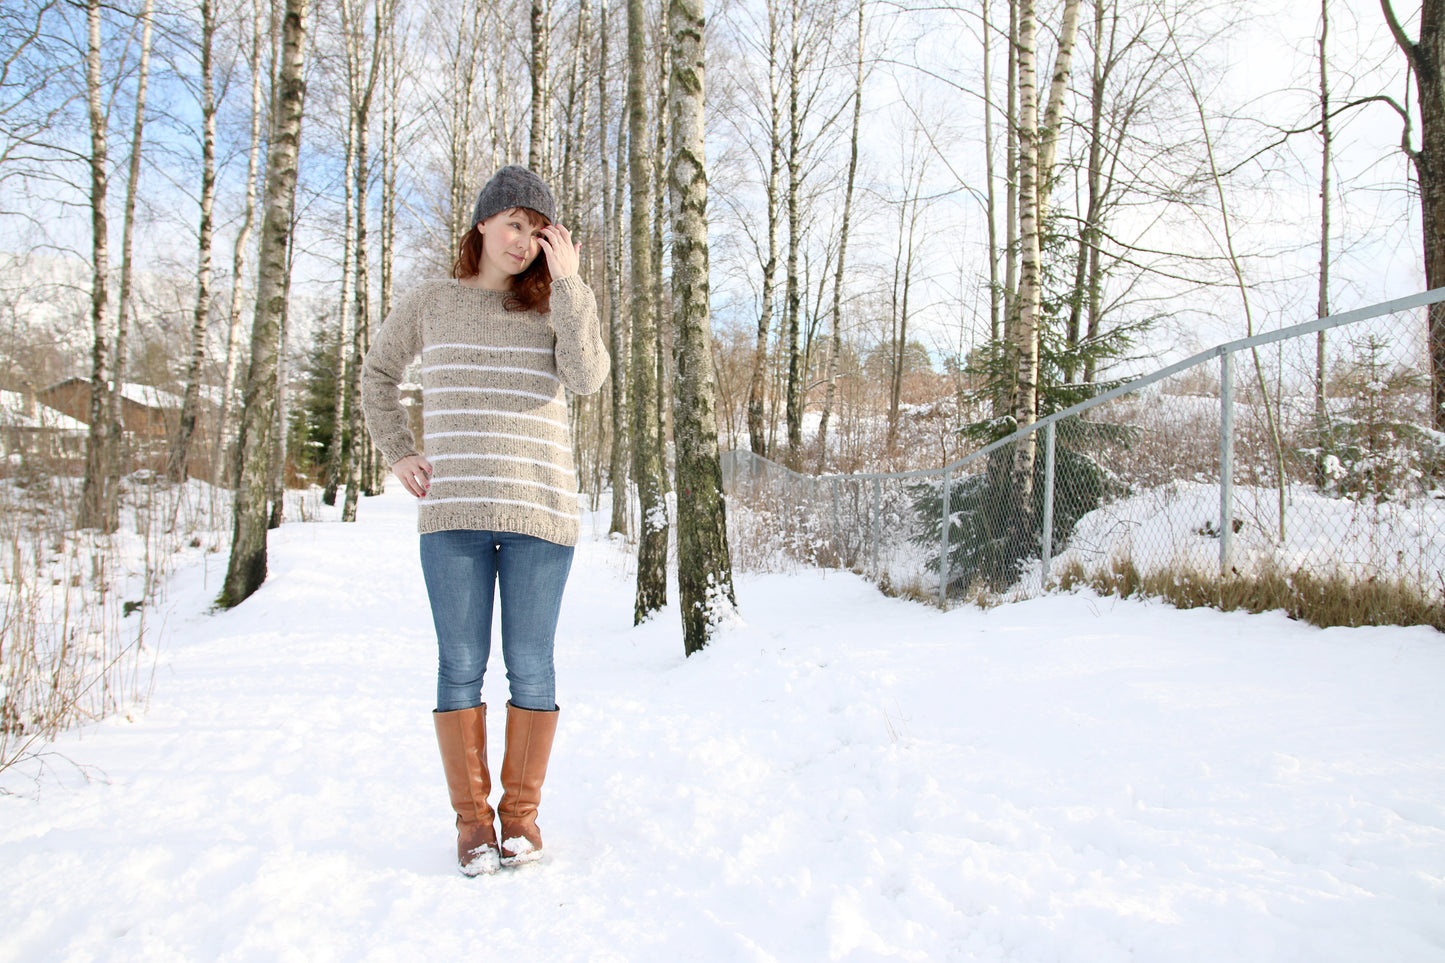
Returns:
[[[564,388],[590,395],[608,357],[578,252],[552,191],[522,166],[477,195],[451,279],[426,281],[392,309],[367,353],[367,428],[420,499],[422,573],[436,626],[436,743],[468,876],[542,856],[536,810],[558,707],[552,641],[577,544],[577,473]],[[426,454],[397,385],[422,359]],[[501,600],[507,668],[501,840],[493,824],[481,680],[491,606]]]

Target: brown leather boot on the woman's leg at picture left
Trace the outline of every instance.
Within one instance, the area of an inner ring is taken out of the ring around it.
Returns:
[[[491,774],[487,772],[487,706],[432,713],[436,745],[452,810],[457,811],[457,865],[467,876],[494,873],[501,866],[497,853]]]

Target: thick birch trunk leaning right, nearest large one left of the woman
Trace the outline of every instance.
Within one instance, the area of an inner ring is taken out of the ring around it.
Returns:
[[[231,557],[221,591],[223,606],[244,602],[266,580],[266,495],[277,409],[276,373],[286,308],[288,249],[292,201],[296,194],[296,155],[305,97],[306,0],[286,0],[282,56],[273,98],[270,149],[266,158],[266,214],[257,257],[256,314],[251,321],[251,361],[246,373],[236,486]]]

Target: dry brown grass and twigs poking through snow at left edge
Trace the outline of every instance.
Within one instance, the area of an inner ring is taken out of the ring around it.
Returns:
[[[152,612],[176,552],[221,541],[212,492],[150,471],[123,479],[120,531],[74,531],[79,480],[49,468],[0,482],[0,771],[71,726],[144,704]]]

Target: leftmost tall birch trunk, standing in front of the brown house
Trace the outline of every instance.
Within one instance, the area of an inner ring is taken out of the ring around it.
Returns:
[[[105,200],[110,185],[107,158],[107,116],[101,91],[101,4],[88,0],[85,4],[87,49],[85,49],[85,103],[90,114],[91,134],[91,399],[90,434],[85,437],[85,482],[81,489],[81,508],[77,528],[98,528],[114,532],[118,525],[118,509],[108,490],[110,477],[110,428],[105,416],[110,412],[110,243]]]

